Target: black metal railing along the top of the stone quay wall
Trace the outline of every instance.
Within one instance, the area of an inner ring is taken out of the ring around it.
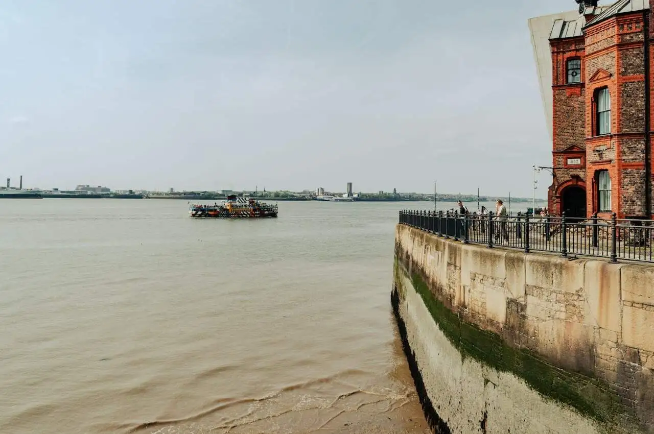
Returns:
[[[495,216],[449,211],[400,211],[400,223],[464,243],[489,248],[518,248],[525,253],[555,252],[561,256],[596,256],[654,262],[652,220],[610,220],[562,216]]]

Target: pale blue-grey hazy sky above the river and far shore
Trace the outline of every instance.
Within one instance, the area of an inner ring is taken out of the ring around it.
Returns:
[[[576,7],[3,0],[0,178],[531,197],[551,142],[527,20]]]

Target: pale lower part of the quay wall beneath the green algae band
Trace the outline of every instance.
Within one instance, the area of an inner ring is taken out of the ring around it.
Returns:
[[[434,433],[610,433],[524,380],[466,357],[438,327],[409,278],[392,301],[422,408]]]

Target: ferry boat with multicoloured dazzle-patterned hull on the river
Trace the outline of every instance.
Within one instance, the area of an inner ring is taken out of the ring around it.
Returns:
[[[194,203],[188,207],[188,215],[194,218],[277,217],[277,205],[267,205],[247,197],[230,195],[226,201],[215,205]]]

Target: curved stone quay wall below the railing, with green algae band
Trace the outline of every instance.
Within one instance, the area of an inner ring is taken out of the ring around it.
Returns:
[[[654,433],[654,267],[396,226],[392,305],[436,433]]]

